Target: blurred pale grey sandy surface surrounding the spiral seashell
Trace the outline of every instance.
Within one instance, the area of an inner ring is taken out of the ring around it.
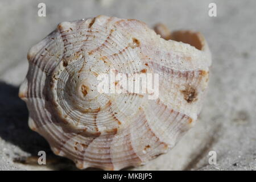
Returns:
[[[217,16],[210,17],[209,3]],[[46,4],[46,17],[38,4]],[[97,15],[142,20],[152,27],[200,31],[212,51],[210,85],[203,111],[176,147],[131,170],[256,170],[256,1],[249,0],[73,0],[0,1],[0,170],[76,169],[52,154],[27,126],[26,104],[18,87],[27,73],[27,51],[57,24]],[[47,165],[35,165],[38,151]],[[217,154],[210,165],[209,151]],[[31,161],[28,161],[30,159]]]

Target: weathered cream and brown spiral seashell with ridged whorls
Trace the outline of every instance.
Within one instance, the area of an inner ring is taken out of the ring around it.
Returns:
[[[139,20],[103,15],[60,23],[27,55],[19,97],[30,128],[80,169],[139,166],[173,148],[200,113],[211,57],[198,32],[158,34]],[[159,96],[98,92],[97,77],[112,69],[158,73]]]

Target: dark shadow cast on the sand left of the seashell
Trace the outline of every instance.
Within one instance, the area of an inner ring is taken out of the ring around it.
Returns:
[[[18,87],[0,81],[0,137],[28,152],[32,158],[38,158],[38,152],[45,151],[49,168],[76,169],[71,160],[53,154],[47,141],[35,131],[30,130],[27,106],[24,101],[20,100],[18,93]],[[33,165],[28,161],[30,159],[16,155],[18,159],[13,159],[14,162]],[[37,160],[33,161],[34,165],[38,165]]]

